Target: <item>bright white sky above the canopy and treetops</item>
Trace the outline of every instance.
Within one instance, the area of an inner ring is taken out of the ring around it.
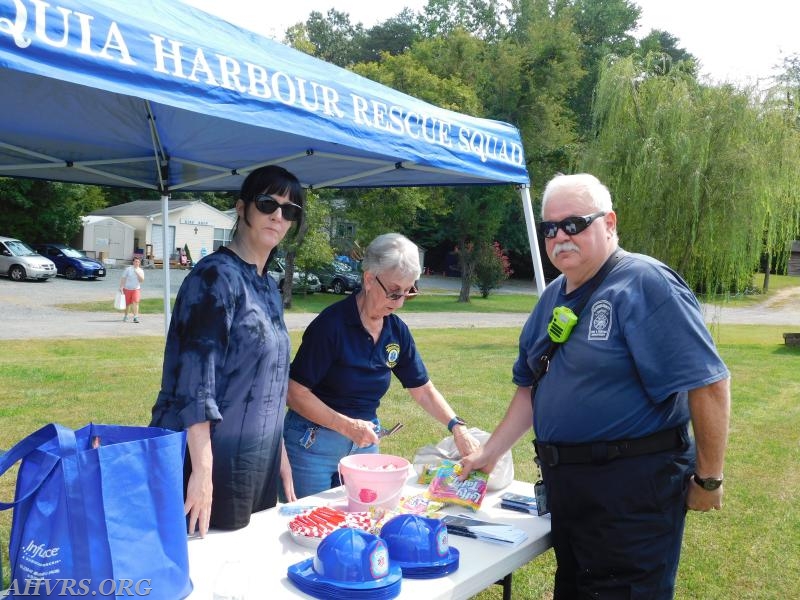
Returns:
[[[241,27],[280,40],[309,13],[330,8],[370,27],[404,7],[421,11],[427,0],[184,0]],[[712,82],[767,87],[775,65],[800,53],[797,0],[635,0],[642,8],[637,37],[663,29],[700,60]]]

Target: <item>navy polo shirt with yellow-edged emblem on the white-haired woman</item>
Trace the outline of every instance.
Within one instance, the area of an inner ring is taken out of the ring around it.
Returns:
[[[428,382],[408,326],[395,314],[384,317],[374,343],[361,323],[356,294],[351,294],[323,310],[306,328],[289,377],[333,410],[372,420],[392,373],[404,388]]]

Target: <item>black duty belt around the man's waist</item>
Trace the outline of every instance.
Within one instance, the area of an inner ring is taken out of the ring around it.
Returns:
[[[665,429],[642,438],[616,440],[612,442],[592,442],[588,444],[562,445],[544,444],[533,441],[536,456],[542,463],[556,465],[604,464],[616,458],[655,454],[666,450],[685,449],[688,442],[686,426]]]

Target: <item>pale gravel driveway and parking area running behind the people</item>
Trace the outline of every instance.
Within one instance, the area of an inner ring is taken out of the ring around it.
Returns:
[[[170,292],[174,295],[189,271],[170,271]],[[122,276],[121,267],[111,267],[108,275],[96,281],[69,281],[61,277],[45,282],[16,282],[0,278],[0,339],[96,338],[128,335],[164,335],[164,316],[146,314],[141,323],[123,323],[122,313],[112,308],[114,293]],[[799,282],[800,283],[800,282]],[[457,291],[459,279],[423,276],[423,290]],[[512,281],[499,293],[535,294],[532,282]],[[164,277],[161,270],[145,270],[142,286],[145,298],[163,298]],[[74,312],[57,308],[60,304],[107,301],[108,312]],[[783,290],[768,303],[750,308],[704,307],[709,323],[749,323],[787,325],[800,331],[800,286]],[[402,318],[414,328],[424,327],[522,327],[527,315],[519,313],[411,313]],[[286,315],[289,329],[302,330],[314,313]]]

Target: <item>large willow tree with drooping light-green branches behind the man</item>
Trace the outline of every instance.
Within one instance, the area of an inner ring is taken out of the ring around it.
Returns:
[[[609,59],[582,168],[609,186],[621,245],[663,260],[698,291],[750,287],[764,251],[781,251],[776,227],[797,166],[775,160],[790,132],[768,116],[747,90]]]

